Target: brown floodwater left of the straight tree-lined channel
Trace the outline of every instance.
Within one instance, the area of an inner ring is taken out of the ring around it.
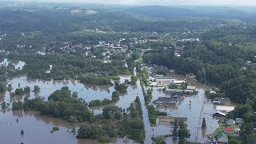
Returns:
[[[130,79],[127,76],[120,76],[120,82],[124,82],[125,79]],[[111,99],[112,92],[114,91],[114,86],[89,86],[84,85],[78,81],[40,81],[40,80],[30,80],[26,76],[19,78],[13,78],[8,80],[8,83],[12,84],[13,92],[20,87],[30,86],[33,90],[34,86],[38,85],[40,93],[35,94],[30,92],[27,96],[29,98],[34,98],[40,95],[47,99],[50,94],[55,90],[60,90],[62,86],[68,86],[71,92],[78,92],[78,98],[84,98],[86,102],[90,102],[95,99]],[[130,106],[131,102],[134,102],[137,95],[142,95],[142,90],[137,82],[137,86],[129,86],[127,89],[127,94],[123,94],[116,106],[120,106],[126,109]],[[0,94],[0,102],[16,102],[22,101],[25,96],[17,96],[15,98],[10,98],[9,92],[5,94]],[[141,98],[142,99],[142,98]],[[94,108],[94,114],[102,113],[101,108]],[[146,113],[147,114],[147,113]],[[18,122],[16,119],[18,118]],[[60,130],[50,133],[53,126],[58,126]],[[36,112],[22,112],[22,111],[12,111],[12,110],[1,110],[0,111],[0,138],[1,143],[21,143],[34,144],[34,143],[62,143],[62,144],[83,144],[83,143],[99,143],[96,140],[88,139],[77,139],[75,134],[70,133],[70,131],[76,127],[78,130],[78,125],[70,124],[58,118],[51,118],[48,116],[42,116]],[[25,134],[21,135],[21,130],[24,130]],[[136,143],[129,138],[116,138],[113,139],[112,143]]]

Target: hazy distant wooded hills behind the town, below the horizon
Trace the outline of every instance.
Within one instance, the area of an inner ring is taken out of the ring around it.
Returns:
[[[26,8],[27,9],[27,8]],[[0,10],[0,32],[7,31],[44,31],[49,34],[68,33],[72,31],[88,30],[102,31],[130,31],[130,32],[184,32],[193,30],[207,30],[219,24],[230,24],[234,21],[216,18],[150,18],[140,14],[129,14],[115,10],[96,10],[95,14],[71,14],[72,9],[51,8],[44,10],[42,7],[31,8],[33,13],[22,10]],[[9,17],[5,17],[9,15]]]

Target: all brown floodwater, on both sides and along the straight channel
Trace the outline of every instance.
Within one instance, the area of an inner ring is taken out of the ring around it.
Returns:
[[[130,77],[121,76],[120,82],[124,82],[125,79],[130,79]],[[60,90],[62,86],[68,86],[72,92],[78,92],[78,98],[84,98],[86,102],[90,102],[95,99],[111,99],[111,94],[114,91],[114,86],[90,86],[84,85],[76,80],[66,80],[66,81],[40,81],[40,80],[30,80],[26,76],[19,78],[13,78],[8,80],[8,84],[12,84],[14,91],[16,88],[30,86],[31,90],[34,86],[38,85],[40,93],[35,94],[30,92],[30,98],[34,98],[38,95],[46,98],[50,96],[55,90]],[[164,96],[162,91],[158,91],[158,88],[154,88],[153,100],[157,99],[159,96]],[[130,106],[131,102],[134,102],[136,96],[139,96],[142,102],[143,111],[143,121],[146,130],[146,141],[145,143],[152,143],[151,137],[171,134],[172,126],[150,126],[150,121],[148,117],[148,111],[146,106],[144,106],[144,98],[142,94],[142,87],[140,82],[137,81],[137,86],[129,86],[127,93],[120,96],[120,100],[113,105],[120,106],[122,109],[126,109]],[[10,98],[9,92],[0,95],[0,102],[12,103],[14,101],[22,100],[25,96],[16,96],[15,98]],[[189,109],[189,102],[191,101],[191,110]],[[203,109],[202,109],[203,108]],[[94,114],[102,113],[102,106],[90,107],[90,110],[94,110]],[[188,118],[188,129],[191,133],[191,138],[188,139],[191,142],[204,142],[205,134],[212,133],[217,127],[217,120],[213,119],[210,114],[214,112],[214,106],[212,102],[205,98],[204,90],[199,89],[199,93],[184,98],[182,102],[178,104],[178,108],[162,108],[161,111],[166,111],[167,114],[175,117],[187,117]],[[202,110],[202,111],[201,111]],[[206,117],[206,132],[203,132],[201,128],[202,118]],[[18,118],[18,122],[16,119]],[[199,122],[198,122],[199,121]],[[59,126],[60,130],[50,133],[52,127]],[[0,138],[3,143],[98,143],[95,140],[88,139],[77,139],[75,134],[70,131],[73,127],[78,130],[78,125],[69,124],[68,122],[62,121],[58,118],[50,118],[47,116],[42,116],[36,112],[22,112],[22,111],[12,111],[6,110],[0,112]],[[20,131],[24,130],[25,134],[21,135]],[[172,138],[166,138],[167,143],[175,143]],[[113,140],[113,143],[135,143],[128,138],[117,138]]]

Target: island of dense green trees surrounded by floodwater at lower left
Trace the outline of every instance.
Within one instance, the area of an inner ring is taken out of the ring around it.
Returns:
[[[48,97],[48,101],[38,97],[34,99],[24,98],[24,102],[14,102],[12,110],[37,110],[42,115],[63,118],[69,122],[91,121],[94,117],[82,98],[71,97],[68,87],[54,91]]]

